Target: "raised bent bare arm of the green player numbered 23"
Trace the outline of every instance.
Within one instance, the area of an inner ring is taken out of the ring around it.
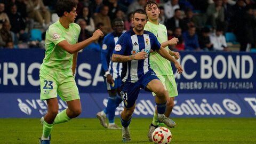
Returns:
[[[104,34],[102,33],[101,30],[95,30],[92,37],[85,39],[82,42],[76,43],[76,44],[69,44],[68,41],[61,41],[58,43],[58,46],[62,47],[62,49],[66,50],[68,53],[76,53],[79,50],[84,49],[85,46],[91,44],[94,41],[97,41],[100,37],[103,37]]]

